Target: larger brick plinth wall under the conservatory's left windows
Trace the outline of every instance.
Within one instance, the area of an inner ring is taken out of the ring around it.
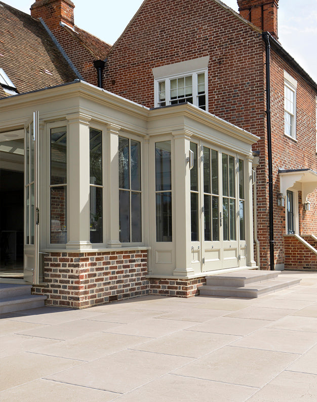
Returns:
[[[148,294],[147,251],[51,252],[44,261],[44,282],[33,294],[46,305],[83,309]]]

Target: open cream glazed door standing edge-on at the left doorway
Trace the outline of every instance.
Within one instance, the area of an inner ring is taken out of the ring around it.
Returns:
[[[38,112],[24,135],[24,280],[38,283]]]

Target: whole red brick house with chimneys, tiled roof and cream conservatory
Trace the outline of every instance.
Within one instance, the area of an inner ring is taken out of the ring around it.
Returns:
[[[0,2],[1,191],[25,216],[2,214],[2,281],[84,308],[268,269],[263,32],[274,265],[316,269],[317,85],[278,42],[278,0],[238,3],[146,0],[111,47],[70,0]]]

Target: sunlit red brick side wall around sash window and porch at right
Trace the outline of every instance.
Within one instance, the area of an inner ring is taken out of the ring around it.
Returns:
[[[296,141],[284,135],[284,70],[297,81]],[[281,58],[271,52],[271,124],[273,158],[273,202],[275,262],[284,262],[285,209],[277,207],[280,192],[279,169],[317,171],[315,92]],[[317,232],[317,191],[309,194],[310,211],[304,211],[298,193],[299,234]],[[261,220],[262,217],[260,216]]]

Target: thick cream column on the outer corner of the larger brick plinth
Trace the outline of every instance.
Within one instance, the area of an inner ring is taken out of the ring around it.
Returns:
[[[67,249],[90,249],[89,122],[91,117],[72,113],[68,120]]]

